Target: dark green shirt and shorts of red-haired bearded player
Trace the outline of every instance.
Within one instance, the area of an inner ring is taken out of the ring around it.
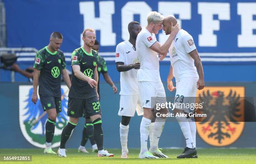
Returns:
[[[80,71],[85,76],[95,79],[94,70],[98,62],[98,53],[91,50],[87,53],[83,47],[77,48],[71,55],[71,66],[80,66]],[[72,84],[69,90],[67,115],[75,118],[90,117],[101,114],[100,102],[97,98],[96,88],[89,83],[74,76],[72,69]]]

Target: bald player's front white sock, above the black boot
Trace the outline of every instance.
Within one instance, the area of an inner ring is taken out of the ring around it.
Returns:
[[[194,148],[193,138],[192,138],[192,134],[190,131],[189,122],[187,121],[187,118],[176,116],[176,119],[177,119],[180,129],[182,130],[182,133],[185,137],[187,147],[193,149]]]

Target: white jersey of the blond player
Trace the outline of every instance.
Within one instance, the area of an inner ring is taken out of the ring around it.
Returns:
[[[156,35],[143,28],[136,39],[136,50],[141,68],[138,70],[138,81],[161,81],[158,53],[150,47],[156,43]]]

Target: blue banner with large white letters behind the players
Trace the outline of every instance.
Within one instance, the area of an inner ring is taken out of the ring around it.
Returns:
[[[96,30],[100,55],[114,61],[116,45],[129,38],[128,23],[136,20],[145,27],[150,11],[176,16],[181,28],[193,36],[203,62],[256,61],[256,0],[4,0],[4,3],[8,47],[39,50],[48,44],[53,31],[59,31],[64,35],[61,50],[68,61],[72,51],[82,44],[85,28]],[[46,12],[49,10],[52,12]],[[157,40],[164,43],[166,38],[160,30]],[[34,53],[19,55],[23,59],[18,61],[34,60]],[[165,60],[169,61],[169,57]]]

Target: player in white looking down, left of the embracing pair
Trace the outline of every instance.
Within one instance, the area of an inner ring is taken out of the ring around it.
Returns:
[[[138,96],[137,72],[140,68],[136,53],[136,38],[141,32],[141,25],[136,21],[128,24],[130,34],[129,40],[119,43],[116,46],[115,63],[120,72],[120,107],[118,115],[122,116],[120,123],[120,141],[122,146],[121,158],[128,157],[128,131],[131,117],[137,111],[138,116],[143,115],[141,103]]]

